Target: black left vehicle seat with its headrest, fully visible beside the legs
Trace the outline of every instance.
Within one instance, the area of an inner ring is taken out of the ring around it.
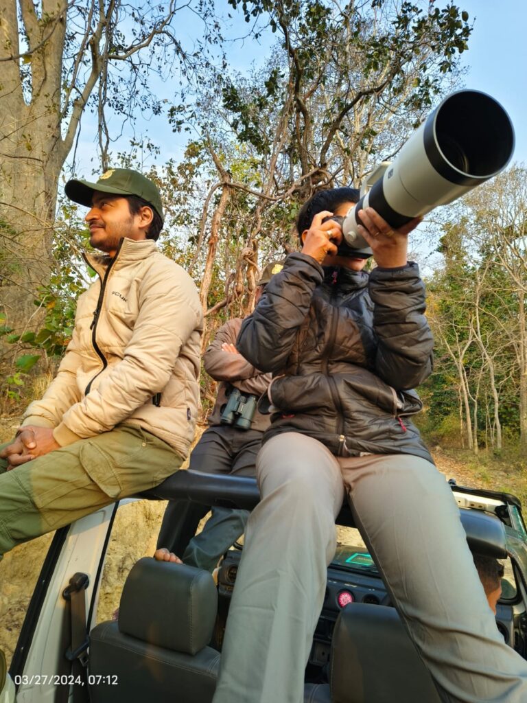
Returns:
[[[217,605],[208,572],[139,560],[124,583],[118,621],[90,633],[89,673],[100,682],[90,687],[91,703],[212,701],[220,654],[207,645]]]

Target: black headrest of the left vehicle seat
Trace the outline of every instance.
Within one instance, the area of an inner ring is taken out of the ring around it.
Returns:
[[[143,557],[124,583],[119,631],[157,647],[196,654],[212,637],[217,607],[211,574]]]

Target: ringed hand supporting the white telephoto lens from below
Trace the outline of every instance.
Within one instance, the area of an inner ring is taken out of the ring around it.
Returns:
[[[392,229],[372,207],[359,210],[358,216],[363,223],[358,225],[358,232],[372,248],[377,266],[383,269],[406,266],[408,234],[422,221],[422,217],[415,217],[402,227]]]

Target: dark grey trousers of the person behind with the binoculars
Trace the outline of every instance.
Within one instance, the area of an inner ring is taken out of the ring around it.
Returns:
[[[259,430],[240,430],[230,425],[208,427],[190,454],[188,467],[209,474],[254,477],[262,434]],[[203,530],[195,535],[197,525],[208,511],[208,505],[170,501],[163,515],[157,548],[167,547],[185,564],[212,572],[221,555],[245,531],[249,512],[213,507]]]

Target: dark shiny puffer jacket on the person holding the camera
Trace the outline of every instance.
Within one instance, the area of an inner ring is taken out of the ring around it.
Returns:
[[[417,264],[357,273],[289,254],[242,323],[238,350],[272,371],[278,432],[301,432],[336,456],[406,453],[432,461],[410,422],[422,408],[413,387],[432,369]]]

